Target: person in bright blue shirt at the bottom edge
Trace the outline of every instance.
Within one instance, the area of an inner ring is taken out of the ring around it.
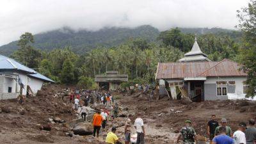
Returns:
[[[226,135],[226,127],[220,127],[219,132],[220,135],[213,138],[213,144],[234,144],[234,140]]]

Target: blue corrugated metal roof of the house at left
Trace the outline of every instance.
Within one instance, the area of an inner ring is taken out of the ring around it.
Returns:
[[[26,67],[22,64],[20,64],[19,62],[13,60],[12,58],[8,58],[6,56],[3,56],[0,54],[0,69],[4,69],[4,70],[20,70],[23,72],[27,72],[31,77],[35,77],[38,79],[41,79],[43,81],[49,81],[49,82],[54,82],[51,79],[49,79],[48,77],[43,76],[42,74],[39,74],[38,72],[36,72],[35,70]]]

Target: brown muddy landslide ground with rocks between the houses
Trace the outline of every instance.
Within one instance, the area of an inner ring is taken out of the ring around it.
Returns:
[[[63,88],[63,87],[62,87]],[[146,143],[173,143],[177,132],[184,125],[184,120],[193,122],[196,132],[205,136],[207,121],[214,113],[218,120],[225,117],[232,129],[237,124],[256,117],[256,103],[245,100],[189,102],[188,100],[170,101],[148,100],[148,95],[127,95],[115,93],[120,105],[122,117],[110,119],[106,130],[100,138],[93,136],[67,136],[72,131],[72,123],[77,118],[72,110],[68,97],[54,97],[62,91],[61,86],[52,84],[42,88],[36,97],[26,99],[26,104],[20,105],[16,100],[1,100],[0,108],[0,141],[1,143],[104,143],[106,133],[112,125],[118,126],[117,135],[124,137],[125,115],[136,112],[143,113],[146,128]],[[115,97],[115,96],[114,96]],[[65,122],[52,124],[49,118],[60,118]],[[41,131],[40,127],[51,126],[51,131]]]

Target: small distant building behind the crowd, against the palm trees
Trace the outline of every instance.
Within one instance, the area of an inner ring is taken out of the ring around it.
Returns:
[[[99,89],[117,90],[120,84],[128,81],[127,74],[118,74],[118,71],[107,71],[106,74],[95,76],[95,83]]]

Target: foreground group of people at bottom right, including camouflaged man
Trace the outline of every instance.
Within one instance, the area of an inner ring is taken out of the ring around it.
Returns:
[[[179,132],[177,143],[180,138],[184,144],[196,143],[196,131],[191,127],[191,120],[186,120],[185,127]],[[250,119],[248,126],[245,122],[240,122],[237,126],[238,129],[234,133],[232,129],[227,125],[227,119],[221,118],[219,125],[216,121],[216,115],[211,116],[211,120],[207,124],[207,135],[210,139],[210,144],[256,144],[256,128],[255,120]]]

